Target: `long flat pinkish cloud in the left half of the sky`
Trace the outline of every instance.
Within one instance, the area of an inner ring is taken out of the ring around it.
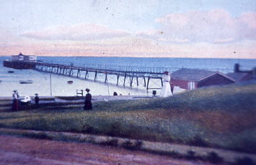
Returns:
[[[20,36],[41,40],[95,40],[129,36],[124,30],[113,30],[103,25],[80,23],[72,26],[55,26],[43,30],[25,32]]]

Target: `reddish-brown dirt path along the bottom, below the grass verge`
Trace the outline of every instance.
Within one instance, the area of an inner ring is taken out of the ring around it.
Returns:
[[[0,164],[210,164],[89,143],[0,135]]]

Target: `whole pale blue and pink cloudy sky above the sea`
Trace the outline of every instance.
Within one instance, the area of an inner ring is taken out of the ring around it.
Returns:
[[[255,0],[0,0],[0,55],[256,58]]]

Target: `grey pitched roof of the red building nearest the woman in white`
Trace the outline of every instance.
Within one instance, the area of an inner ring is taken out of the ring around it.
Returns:
[[[201,81],[215,74],[220,74],[221,76],[224,76],[227,79],[234,81],[231,77],[225,76],[225,74],[222,74],[220,72],[203,69],[180,69],[173,72],[171,74],[171,77],[188,81]]]

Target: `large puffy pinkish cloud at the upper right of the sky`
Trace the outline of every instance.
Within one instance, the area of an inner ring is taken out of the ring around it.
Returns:
[[[138,34],[171,43],[256,40],[256,14],[253,12],[232,17],[229,12],[220,9],[187,11],[165,15],[155,19],[155,22],[160,24],[159,29],[145,30]]]

